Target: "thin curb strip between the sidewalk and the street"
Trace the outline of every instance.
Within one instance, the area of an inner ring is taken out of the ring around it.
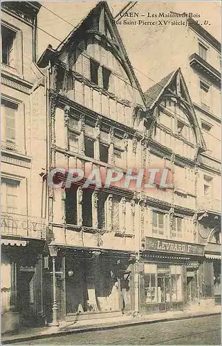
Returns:
[[[41,338],[53,338],[55,336],[64,336],[64,335],[69,335],[69,334],[80,334],[80,333],[86,333],[87,331],[101,331],[101,330],[108,330],[108,329],[118,329],[118,328],[124,328],[124,327],[131,327],[135,325],[149,325],[151,323],[158,323],[158,322],[170,322],[174,320],[188,320],[189,318],[200,318],[200,317],[208,317],[208,316],[216,316],[216,315],[221,315],[220,312],[214,312],[214,313],[205,313],[201,314],[199,313],[198,315],[188,315],[188,316],[182,316],[182,317],[172,317],[172,318],[159,318],[156,320],[143,320],[143,321],[135,321],[135,322],[126,322],[122,323],[120,325],[107,325],[107,326],[100,326],[100,327],[85,327],[85,328],[80,328],[80,329],[71,329],[69,331],[55,331],[54,333],[48,332],[48,334],[39,334],[35,336],[24,336],[21,338],[15,338],[15,339],[6,339],[2,340],[1,343],[2,345],[9,345],[12,343],[21,343],[23,341],[30,341],[30,340],[37,340]]]

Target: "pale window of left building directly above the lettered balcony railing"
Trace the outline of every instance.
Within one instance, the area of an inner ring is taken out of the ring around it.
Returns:
[[[1,210],[12,214],[19,213],[19,185],[14,179],[1,179]]]

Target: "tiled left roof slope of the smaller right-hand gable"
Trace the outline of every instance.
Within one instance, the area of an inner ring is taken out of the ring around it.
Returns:
[[[178,71],[178,70],[176,70]],[[154,84],[151,86],[146,92],[145,92],[145,101],[146,106],[151,109],[154,107],[156,102],[158,102],[160,96],[163,94],[169,83],[172,81],[172,78],[176,74],[176,71],[173,71],[169,73],[165,78],[160,80],[160,82]]]

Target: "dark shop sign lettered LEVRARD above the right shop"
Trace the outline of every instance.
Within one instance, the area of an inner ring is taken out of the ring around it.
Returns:
[[[181,253],[184,255],[204,255],[204,245],[174,242],[167,239],[146,237],[145,250],[160,251],[164,253]]]

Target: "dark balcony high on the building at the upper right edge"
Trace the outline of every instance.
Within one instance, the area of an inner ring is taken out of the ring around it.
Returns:
[[[217,71],[212,65],[204,60],[200,55],[194,53],[189,56],[189,65],[197,71],[204,73],[214,80],[216,84],[221,84],[221,73]]]

